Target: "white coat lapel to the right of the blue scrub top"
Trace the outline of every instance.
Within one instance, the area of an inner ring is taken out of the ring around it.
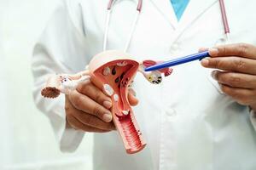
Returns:
[[[218,3],[218,0],[190,0],[181,20],[179,20],[177,24],[177,29],[174,32],[171,44],[175,42],[195,20],[211,8],[214,3]]]

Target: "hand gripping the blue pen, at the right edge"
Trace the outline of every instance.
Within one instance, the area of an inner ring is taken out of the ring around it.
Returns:
[[[201,48],[205,51],[207,48]],[[208,49],[211,57],[201,65],[212,71],[224,94],[256,111],[256,47],[246,43],[222,45]]]

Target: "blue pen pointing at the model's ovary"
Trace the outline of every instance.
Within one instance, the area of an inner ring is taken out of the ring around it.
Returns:
[[[209,56],[210,56],[210,54],[208,51],[204,51],[204,52],[197,53],[197,54],[190,54],[190,55],[182,57],[182,58],[172,59],[172,60],[160,63],[158,65],[149,66],[148,68],[145,69],[145,71],[155,71],[155,70],[160,70],[160,69],[163,69],[166,67],[182,65],[184,63],[189,63],[189,62],[195,61],[195,60],[201,60],[201,59],[204,59]]]

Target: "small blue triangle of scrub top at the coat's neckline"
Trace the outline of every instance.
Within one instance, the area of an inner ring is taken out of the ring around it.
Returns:
[[[189,0],[170,0],[170,1],[172,3],[172,8],[174,9],[177,20],[180,20],[185,8],[189,4]]]

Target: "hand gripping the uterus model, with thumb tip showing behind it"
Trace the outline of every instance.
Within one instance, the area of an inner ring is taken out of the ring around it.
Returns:
[[[132,89],[128,101],[137,105],[138,100]],[[111,99],[93,82],[80,83],[76,90],[66,95],[65,111],[67,127],[92,133],[108,133],[115,130],[112,122]]]

